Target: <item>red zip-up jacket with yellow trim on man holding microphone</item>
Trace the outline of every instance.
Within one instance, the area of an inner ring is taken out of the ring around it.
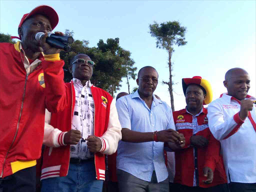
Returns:
[[[59,54],[40,55],[40,64],[27,74],[19,43],[0,43],[1,178],[36,164],[45,108],[56,112],[66,105]]]

